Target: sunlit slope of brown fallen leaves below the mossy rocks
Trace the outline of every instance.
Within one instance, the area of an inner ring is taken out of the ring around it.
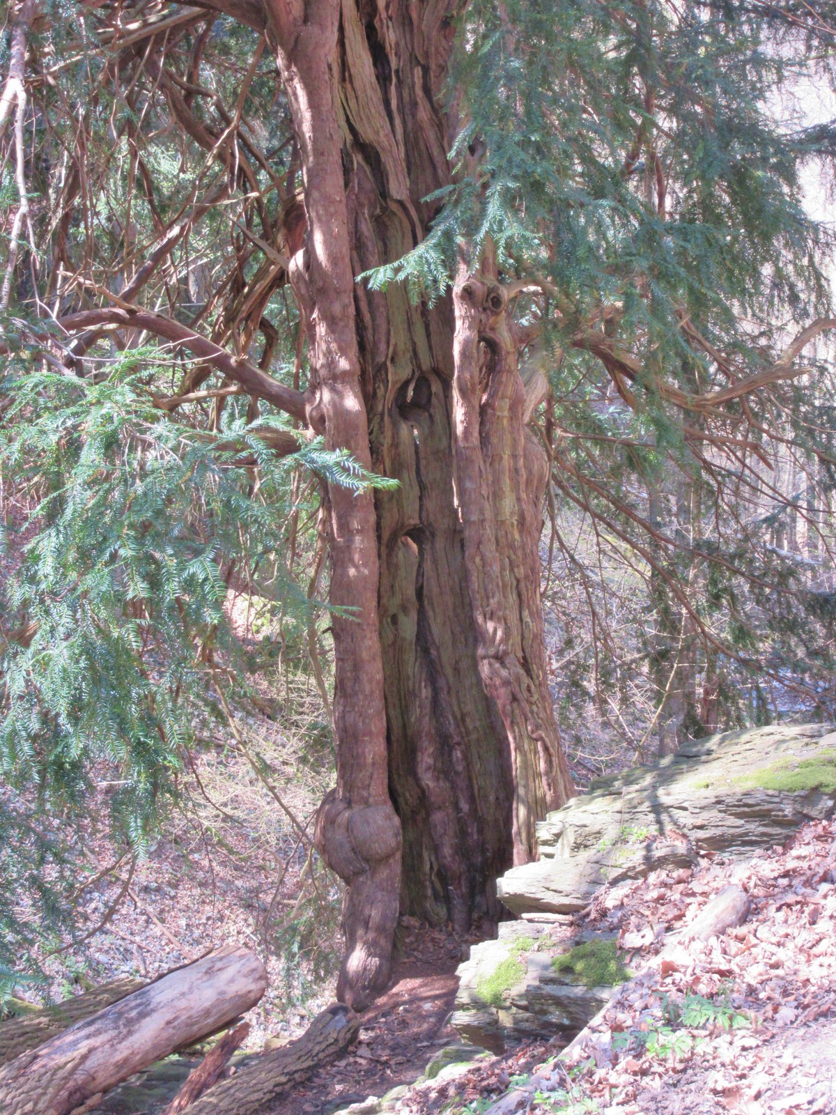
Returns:
[[[482,1115],[511,1086],[495,1115],[833,1115],[836,821],[809,824],[746,863],[707,860],[693,874],[655,872],[601,892],[579,928],[618,929],[636,970],[667,925],[686,927],[730,883],[749,894],[746,922],[636,981],[579,1061],[564,1066],[557,1045],[522,1045],[418,1084],[387,1109]],[[378,1035],[381,1060],[386,1049]]]

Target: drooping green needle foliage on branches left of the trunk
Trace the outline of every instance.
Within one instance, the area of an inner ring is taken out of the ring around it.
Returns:
[[[21,888],[31,909],[58,912],[43,867],[58,879],[64,854],[35,818],[81,813],[104,770],[113,835],[142,854],[217,687],[246,706],[270,643],[234,633],[230,585],[274,614],[322,607],[281,559],[292,474],[386,483],[315,444],[276,459],[235,406],[213,435],[169,420],[148,391],[154,357],[134,351],[101,381],[30,370],[2,385],[0,467],[27,514],[0,586],[0,910],[11,919],[0,961],[19,938],[9,911]],[[257,463],[257,493],[242,455]]]

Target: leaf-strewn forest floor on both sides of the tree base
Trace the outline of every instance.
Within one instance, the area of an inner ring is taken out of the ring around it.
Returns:
[[[293,762],[269,745],[261,739],[274,772]],[[278,817],[271,794],[240,756],[218,747],[204,760],[201,780],[203,804],[195,798],[191,814],[137,864],[109,914],[127,864],[93,876],[81,908],[96,931],[69,963],[55,961],[52,991],[60,998],[68,990],[68,970],[95,982],[153,978],[210,946],[241,941],[266,958],[271,976],[268,997],[250,1016],[255,1050],[268,1036],[295,1037],[330,1001],[330,977],[318,981],[315,966],[327,968],[328,950],[337,949],[336,920],[333,931],[322,922],[336,895],[318,893],[324,876],[310,884],[309,850],[297,846],[292,826]],[[303,824],[317,780],[285,794]],[[114,860],[114,849],[95,832],[76,838],[91,870]],[[554,1060],[557,1046],[529,1044],[486,1055],[455,1078],[446,1070],[414,1085],[441,1048],[459,1040],[448,1022],[455,972],[478,934],[459,940],[404,919],[392,985],[363,1016],[359,1041],[264,1115],[362,1108],[368,1097],[397,1086],[407,1087],[386,1109],[398,1115],[483,1115],[508,1087],[515,1092],[503,1101],[503,1115],[836,1115],[836,821],[807,825],[785,846],[742,864],[707,857],[696,873],[657,872],[604,890],[575,928],[618,930],[635,969],[658,951],[665,930],[686,925],[729,882],[751,898],[745,924],[692,947],[655,985],[641,985],[604,1035],[615,1034],[619,1048],[602,1041],[571,1075]],[[291,932],[280,938],[268,914]],[[305,938],[312,919],[319,919],[317,933]],[[282,953],[294,942],[294,954]]]

